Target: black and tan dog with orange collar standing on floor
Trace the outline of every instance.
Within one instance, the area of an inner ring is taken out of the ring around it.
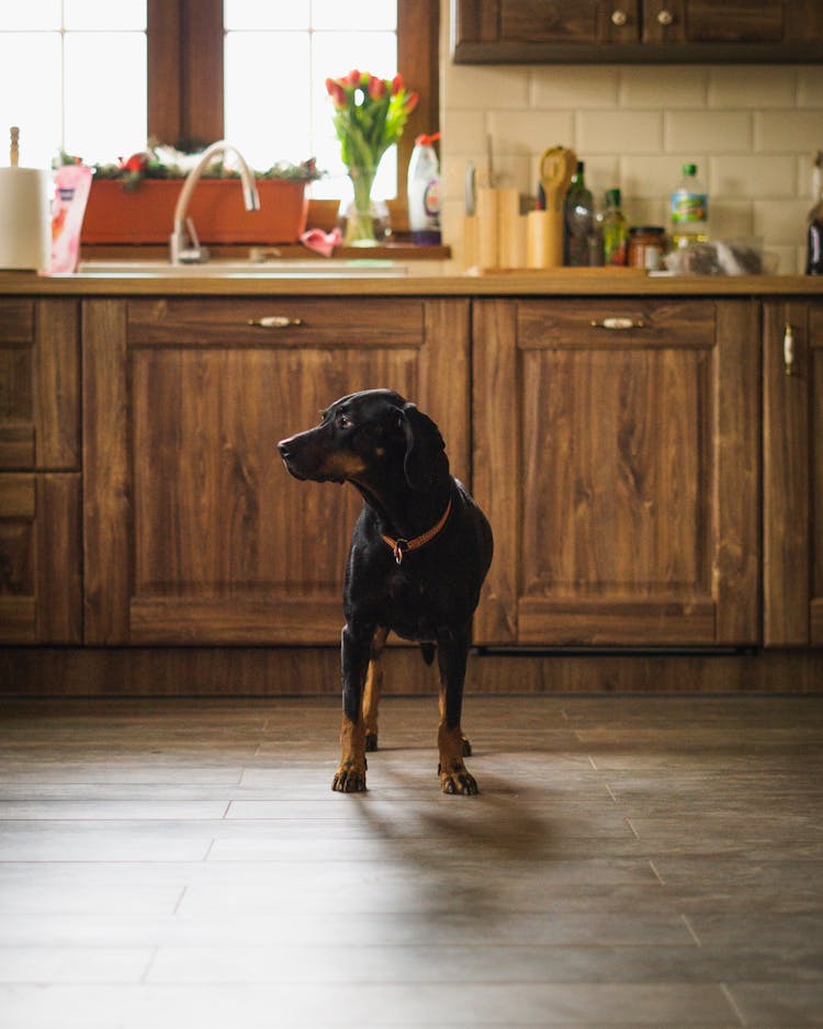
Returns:
[[[476,793],[460,727],[471,621],[492,562],[492,530],[449,474],[435,422],[391,389],[336,400],[317,428],[282,440],[300,479],[352,483],[362,494],[343,588],[342,757],[331,788],[365,789],[377,745],[380,655],[390,631],[422,644],[440,671],[438,773],[446,793]]]

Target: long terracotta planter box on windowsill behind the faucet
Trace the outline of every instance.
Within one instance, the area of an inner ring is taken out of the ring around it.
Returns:
[[[148,179],[126,192],[115,179],[92,182],[84,244],[166,244],[182,179]],[[246,211],[239,180],[201,179],[188,216],[204,244],[296,242],[306,228],[305,183],[258,179],[260,210]]]

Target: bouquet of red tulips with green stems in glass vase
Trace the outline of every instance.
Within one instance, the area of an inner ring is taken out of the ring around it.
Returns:
[[[418,95],[408,92],[403,78],[381,79],[368,71],[350,71],[342,79],[326,79],[334,104],[335,134],[340,155],[354,189],[354,211],[349,218],[346,242],[374,244],[371,192],[377,166],[385,151],[403,135]]]

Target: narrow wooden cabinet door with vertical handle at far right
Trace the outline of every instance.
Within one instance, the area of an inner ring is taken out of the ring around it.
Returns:
[[[788,337],[788,338],[787,338]],[[764,309],[764,643],[823,645],[823,304]]]

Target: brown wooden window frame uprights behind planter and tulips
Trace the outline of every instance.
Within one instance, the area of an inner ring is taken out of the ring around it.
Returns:
[[[148,0],[148,135],[160,143],[222,139],[223,0]],[[397,70],[420,100],[398,144],[397,195],[417,135],[440,123],[439,0],[397,0]]]

